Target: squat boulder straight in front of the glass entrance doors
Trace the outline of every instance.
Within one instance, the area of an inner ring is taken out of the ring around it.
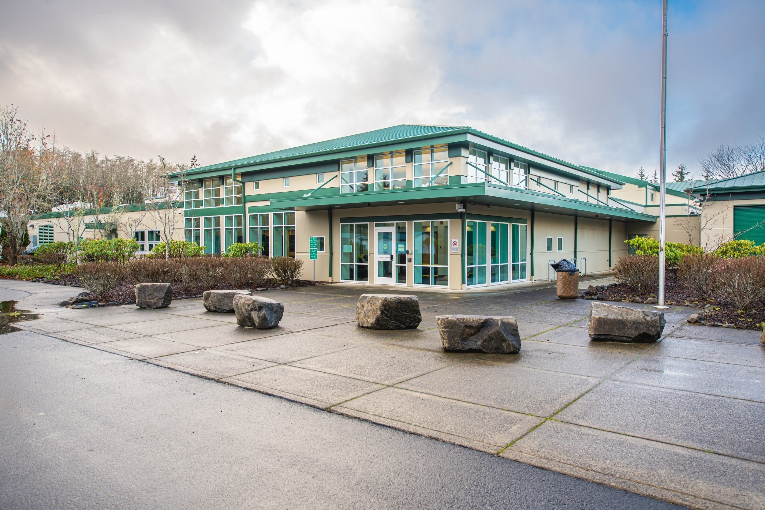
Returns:
[[[422,322],[417,296],[362,294],[356,323],[367,329],[415,329]]]

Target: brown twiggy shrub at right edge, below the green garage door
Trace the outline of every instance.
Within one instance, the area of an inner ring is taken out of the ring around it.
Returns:
[[[737,310],[765,297],[765,258],[734,257],[719,261],[718,288],[715,295],[731,302]]]

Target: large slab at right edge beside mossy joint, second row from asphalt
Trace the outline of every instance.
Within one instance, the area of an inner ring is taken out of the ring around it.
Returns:
[[[555,419],[765,463],[765,404],[751,400],[605,381]]]

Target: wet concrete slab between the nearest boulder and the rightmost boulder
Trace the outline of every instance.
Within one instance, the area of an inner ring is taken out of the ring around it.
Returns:
[[[527,340],[523,342],[521,351],[517,355],[482,354],[479,358],[495,363],[607,378],[633,361],[636,355],[634,352]]]

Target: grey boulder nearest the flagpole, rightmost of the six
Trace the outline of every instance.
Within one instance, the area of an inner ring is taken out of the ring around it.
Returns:
[[[666,320],[663,312],[594,302],[590,306],[587,332],[593,340],[607,342],[656,342]]]

